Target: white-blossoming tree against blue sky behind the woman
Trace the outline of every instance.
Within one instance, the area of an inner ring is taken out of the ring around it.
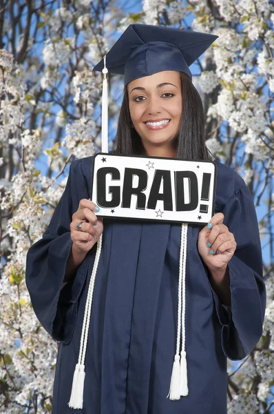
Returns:
[[[193,82],[207,146],[242,175],[260,219],[267,307],[251,355],[229,361],[229,414],[274,404],[274,6],[269,0],[0,0],[0,413],[50,413],[58,344],[41,328],[24,282],[75,157],[100,149],[101,76],[92,73],[130,23],[218,34]],[[136,7],[136,6],[135,6]],[[123,90],[109,77],[110,135]]]

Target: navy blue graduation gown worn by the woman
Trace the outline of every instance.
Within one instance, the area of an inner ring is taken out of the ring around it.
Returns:
[[[70,166],[67,185],[42,239],[28,250],[26,284],[34,312],[60,341],[53,414],[70,400],[96,245],[63,286],[70,222],[89,199],[93,157]],[[189,393],[169,400],[176,351],[180,224],[103,219],[85,356],[85,414],[225,414],[226,362],[251,353],[262,335],[266,288],[253,199],[244,180],[217,162],[215,213],[237,242],[229,261],[231,316],[198,253],[199,225],[187,237],[185,350]],[[62,287],[63,286],[63,287]]]

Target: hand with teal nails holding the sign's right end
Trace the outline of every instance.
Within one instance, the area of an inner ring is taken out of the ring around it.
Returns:
[[[230,233],[223,221],[224,215],[216,213],[199,233],[198,251],[209,270],[226,269],[236,250],[233,233]],[[210,224],[212,227],[208,228]]]

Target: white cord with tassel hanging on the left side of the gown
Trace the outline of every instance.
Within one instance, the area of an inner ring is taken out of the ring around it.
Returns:
[[[97,242],[96,255],[94,260],[94,266],[92,269],[92,275],[89,281],[89,289],[87,292],[87,302],[85,303],[85,315],[83,320],[83,328],[81,334],[80,351],[78,355],[78,364],[75,366],[75,371],[72,381],[72,393],[70,395],[70,402],[68,405],[70,408],[81,409],[83,408],[83,393],[85,383],[85,352],[87,350],[87,335],[89,331],[90,314],[92,311],[92,296],[94,290],[94,282],[96,277],[96,271],[98,262],[101,255],[103,233]]]

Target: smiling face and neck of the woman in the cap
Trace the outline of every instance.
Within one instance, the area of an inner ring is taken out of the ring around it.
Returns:
[[[127,85],[132,124],[147,155],[176,157],[176,136],[182,115],[180,75],[165,70]]]

